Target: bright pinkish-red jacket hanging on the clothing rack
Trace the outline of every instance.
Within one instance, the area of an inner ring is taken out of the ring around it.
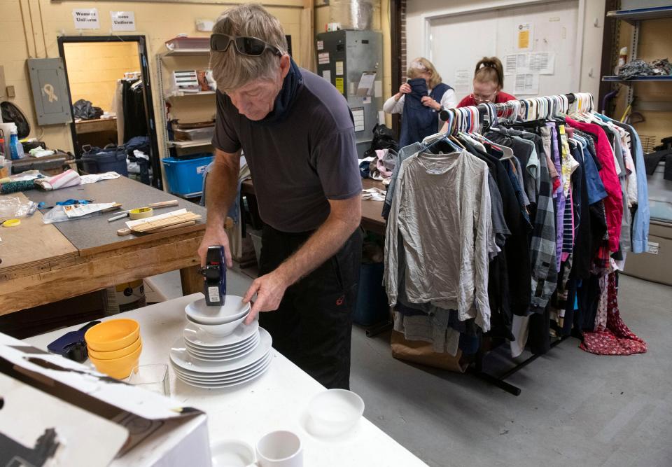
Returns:
[[[618,251],[619,240],[621,238],[621,222],[623,220],[623,195],[621,192],[621,183],[616,174],[614,152],[611,149],[607,135],[599,125],[577,122],[571,118],[566,118],[565,120],[571,127],[594,134],[597,137],[595,151],[597,153],[597,158],[600,161],[600,165],[602,166],[602,169],[600,170],[600,178],[607,191],[607,197],[604,199],[604,209],[607,214],[609,250],[612,252]]]

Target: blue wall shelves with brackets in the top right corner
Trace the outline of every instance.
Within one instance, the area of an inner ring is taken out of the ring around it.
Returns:
[[[624,20],[633,25],[632,39],[630,43],[630,57],[629,62],[637,60],[637,48],[639,45],[639,28],[643,20],[657,20],[660,18],[672,18],[672,6],[657,6],[652,8],[636,8],[633,10],[617,10],[608,11],[607,18],[614,18],[615,20]],[[627,102],[631,104],[634,100],[634,85],[633,83],[642,82],[664,82],[672,81],[672,76],[639,76],[629,80],[623,80],[618,76],[603,76],[602,81],[609,81],[613,83],[622,83],[628,86]],[[650,110],[666,109],[668,106],[652,106]],[[644,110],[641,106],[639,109]]]

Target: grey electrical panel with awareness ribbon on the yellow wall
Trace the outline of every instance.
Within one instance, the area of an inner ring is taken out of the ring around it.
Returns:
[[[27,62],[38,125],[71,123],[63,59],[31,58]]]

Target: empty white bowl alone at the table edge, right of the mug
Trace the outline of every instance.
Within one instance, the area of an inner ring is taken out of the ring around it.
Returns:
[[[329,389],[308,406],[308,428],[316,436],[337,436],[349,431],[364,413],[364,401],[345,389]]]

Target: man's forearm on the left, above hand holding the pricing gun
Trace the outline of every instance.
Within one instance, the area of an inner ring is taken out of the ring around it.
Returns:
[[[226,213],[235,202],[238,193],[239,167],[240,162],[237,158],[216,156],[215,165],[208,174],[206,186],[208,228],[223,227]]]

